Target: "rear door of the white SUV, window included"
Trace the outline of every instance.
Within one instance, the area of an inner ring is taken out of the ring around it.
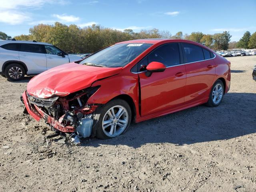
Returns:
[[[47,70],[44,46],[41,44],[20,44],[19,57],[28,68],[27,74],[40,74]]]

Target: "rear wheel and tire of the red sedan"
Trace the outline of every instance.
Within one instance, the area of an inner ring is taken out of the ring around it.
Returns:
[[[217,87],[217,85],[218,85],[218,87]],[[216,95],[217,89],[218,89],[218,92]],[[206,105],[210,106],[210,107],[218,106],[221,103],[223,96],[224,96],[224,85],[223,85],[222,81],[218,79],[212,86],[212,90],[210,92],[209,99],[208,99],[208,102],[206,103]]]

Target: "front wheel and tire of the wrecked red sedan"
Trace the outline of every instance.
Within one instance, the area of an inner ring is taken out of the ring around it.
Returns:
[[[113,112],[110,112],[112,111],[111,109],[114,110],[114,115],[112,115]],[[120,112],[122,115],[118,117],[116,114],[118,114],[120,109],[122,109]],[[124,134],[130,126],[131,118],[132,111],[126,101],[121,99],[111,100],[94,115],[96,137],[99,139],[110,139]]]

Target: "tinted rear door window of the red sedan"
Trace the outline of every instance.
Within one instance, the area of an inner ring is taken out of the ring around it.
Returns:
[[[203,49],[200,46],[183,43],[187,63],[204,60]]]

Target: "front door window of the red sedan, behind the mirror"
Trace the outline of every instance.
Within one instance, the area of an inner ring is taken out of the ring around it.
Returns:
[[[161,62],[166,67],[180,64],[180,50],[178,43],[169,43],[156,48],[148,55],[148,63]]]

